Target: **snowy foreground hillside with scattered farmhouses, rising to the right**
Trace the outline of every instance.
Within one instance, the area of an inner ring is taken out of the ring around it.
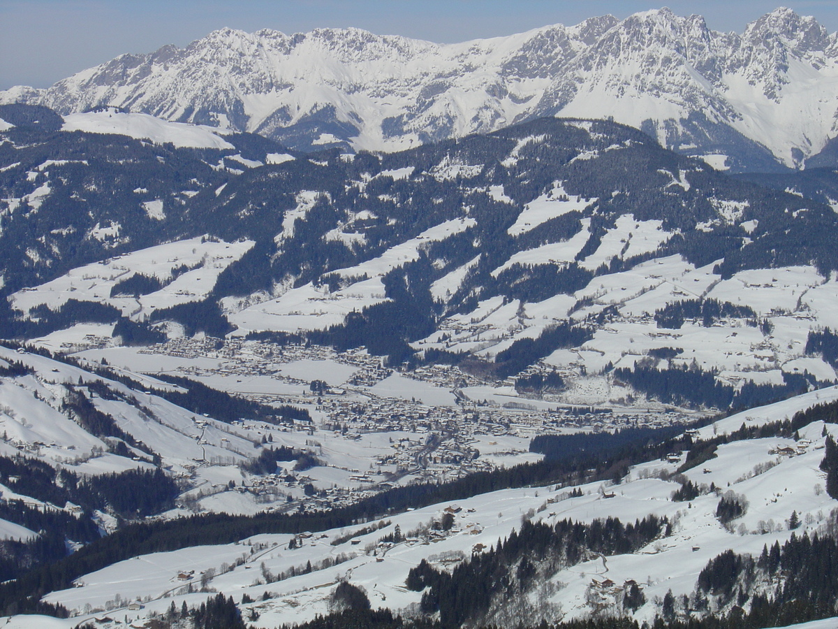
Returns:
[[[832,398],[834,391],[822,392],[821,401]],[[785,403],[784,410],[791,413],[813,402],[813,398],[795,398]],[[765,408],[752,413],[782,419],[777,411]],[[727,425],[742,421],[747,423],[750,418],[729,418],[727,424],[716,424],[713,434],[702,437],[727,434]],[[297,622],[328,613],[335,585],[346,580],[365,589],[373,608],[413,616],[418,613],[422,591],[407,588],[406,580],[422,560],[450,572],[459,564],[475,561],[476,555],[493,552],[490,547],[508,538],[514,529],[521,530],[525,521],[552,526],[566,519],[591,523],[611,517],[634,522],[654,515],[666,518],[667,531],[661,530],[637,551],[588,554],[548,575],[519,605],[492,608],[486,616],[505,623],[513,614],[518,621],[533,625],[542,615],[551,621],[567,621],[627,613],[652,621],[661,615],[661,601],[667,596],[680,601],[684,595],[683,600],[692,606],[701,596],[698,574],[727,549],[757,557],[763,547],[770,548],[775,542],[782,545],[793,536],[831,530],[836,502],[823,491],[824,474],[819,465],[825,452],[823,435],[835,432],[835,424],[817,421],[798,430],[796,443],[783,437],[733,440],[720,445],[713,458],[686,470],[684,476],[675,475],[685,461],[685,453],[680,453],[633,465],[618,484],[597,481],[574,487],[494,491],[394,514],[363,526],[300,535],[262,534],[236,543],[142,555],[85,574],[75,580],[76,587],[50,593],[45,600],[77,614],[71,619],[75,623],[104,613],[132,621],[153,612],[163,614],[172,601],[177,609],[183,601],[187,606],[198,606],[206,595],[195,590],[211,585],[211,591],[232,596],[236,603],[241,601],[245,617],[251,610],[257,611],[255,626],[271,627],[282,624],[291,612]],[[700,448],[701,441],[694,447]],[[698,496],[676,499],[674,492],[688,481],[700,488]],[[717,509],[726,496],[738,496],[746,507],[743,515],[722,524]],[[447,512],[451,515],[446,516]],[[440,528],[438,523],[446,517],[447,528]],[[394,532],[395,541],[380,541]],[[639,585],[644,595],[635,611],[621,602],[629,584]],[[263,595],[265,592],[268,594]],[[724,605],[721,597],[711,599],[711,611],[723,611],[713,607]],[[127,604],[132,600],[142,601],[142,610],[129,610]],[[702,612],[676,603],[678,617],[691,613],[701,616]],[[15,618],[13,626],[35,625]]]

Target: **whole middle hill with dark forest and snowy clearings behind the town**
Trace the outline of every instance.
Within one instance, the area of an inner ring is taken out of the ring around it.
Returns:
[[[463,382],[442,398],[545,408],[735,408],[835,382],[835,211],[630,127],[544,118],[296,159],[256,136],[221,153],[5,134],[0,316],[51,350],[308,340],[443,357]],[[525,390],[551,373],[561,386]]]

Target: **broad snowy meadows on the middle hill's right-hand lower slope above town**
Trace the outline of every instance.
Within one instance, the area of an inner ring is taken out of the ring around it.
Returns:
[[[731,211],[736,211],[732,206]],[[520,264],[518,273],[528,273],[527,265],[572,264],[589,237],[588,219],[582,231],[566,242],[556,242],[515,253],[492,275]],[[585,258],[582,266],[597,268],[612,257],[631,257],[654,251],[671,236],[658,221],[634,221],[623,216],[620,228],[608,231],[597,252]],[[782,384],[782,374],[809,372],[821,382],[835,382],[838,374],[820,356],[805,356],[810,331],[838,328],[838,281],[825,278],[814,267],[749,269],[722,280],[714,273],[716,262],[696,268],[675,255],[657,257],[619,273],[598,275],[575,294],[558,294],[538,304],[500,298],[481,301],[467,314],[443,319],[437,331],[413,344],[416,350],[433,347],[446,351],[473,351],[492,359],[515,340],[537,338],[546,327],[570,319],[582,323],[604,309],[613,309],[608,320],[597,326],[592,340],[572,350],[558,350],[543,359],[542,365],[562,372],[598,373],[608,363],[633,367],[637,361],[653,361],[665,368],[665,361],[649,358],[649,351],[673,348],[678,355],[674,366],[716,369],[717,379],[733,387],[743,382]],[[514,281],[514,278],[510,278]],[[439,294],[442,294],[440,291]],[[653,315],[667,304],[696,299],[746,306],[756,317],[716,320],[706,327],[701,320],[686,320],[679,329],[656,325]],[[767,322],[770,329],[753,327],[755,320]],[[600,393],[587,403],[602,403],[609,395],[627,394],[613,388],[608,377],[598,377]],[[570,400],[567,396],[565,399]],[[582,401],[579,401],[582,403]]]

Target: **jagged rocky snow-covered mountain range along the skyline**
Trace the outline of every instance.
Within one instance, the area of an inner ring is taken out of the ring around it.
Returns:
[[[0,102],[117,106],[292,148],[396,150],[536,117],[612,117],[719,168],[799,168],[838,134],[838,35],[779,8],[743,34],[663,8],[462,44],[221,29]],[[818,160],[815,159],[815,163]]]

